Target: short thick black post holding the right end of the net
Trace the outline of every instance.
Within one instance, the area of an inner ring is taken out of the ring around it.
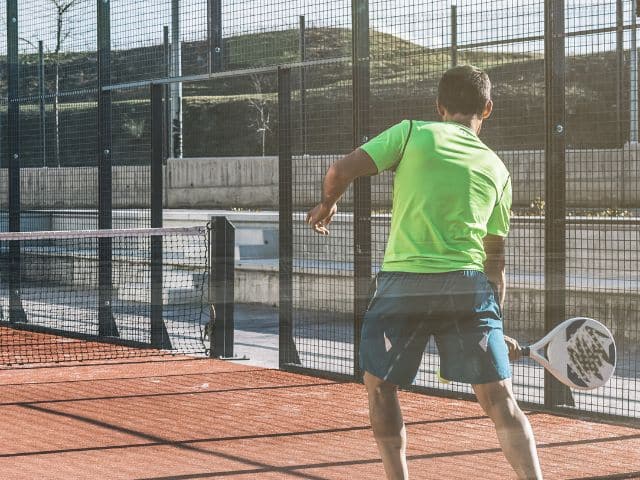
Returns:
[[[211,356],[233,358],[235,303],[235,227],[227,217],[211,217],[210,291],[215,303]]]

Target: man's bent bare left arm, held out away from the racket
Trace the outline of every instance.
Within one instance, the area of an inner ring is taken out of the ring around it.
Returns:
[[[307,213],[307,223],[316,233],[328,235],[327,225],[338,211],[336,204],[358,177],[375,175],[378,168],[367,152],[356,148],[350,154],[333,163],[322,181],[320,203]]]

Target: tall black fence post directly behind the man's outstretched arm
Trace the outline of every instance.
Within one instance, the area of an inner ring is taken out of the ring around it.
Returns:
[[[369,1],[352,3],[353,31],[353,143],[359,147],[369,135]],[[360,376],[360,328],[371,283],[371,179],[360,177],[353,191],[354,248],[354,373]]]

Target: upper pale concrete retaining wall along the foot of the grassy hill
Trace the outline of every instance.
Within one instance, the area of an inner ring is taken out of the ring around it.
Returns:
[[[499,152],[513,178],[514,205],[544,197],[544,152]],[[294,202],[318,201],[322,177],[339,156],[293,160]],[[640,207],[640,153],[637,146],[617,150],[568,150],[567,203],[582,207]],[[387,207],[391,176],[373,177],[374,207]],[[114,208],[149,204],[149,168],[114,167]],[[0,208],[7,206],[7,171],[0,170]],[[25,168],[21,171],[25,209],[95,208],[97,169]],[[277,157],[169,159],[165,169],[167,208],[277,208]],[[344,204],[351,202],[347,192]]]

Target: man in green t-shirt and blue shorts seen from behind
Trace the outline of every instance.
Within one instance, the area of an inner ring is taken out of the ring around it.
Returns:
[[[514,398],[503,337],[504,241],[511,180],[478,138],[491,114],[491,83],[471,66],[447,71],[436,108],[442,122],[394,125],[335,162],[307,215],[317,233],[357,177],[395,170],[389,241],[364,318],[360,364],[387,478],[407,479],[398,386],[413,382],[433,335],[440,375],[472,385],[519,478],[541,479],[531,426]],[[509,343],[509,347],[505,343]]]

